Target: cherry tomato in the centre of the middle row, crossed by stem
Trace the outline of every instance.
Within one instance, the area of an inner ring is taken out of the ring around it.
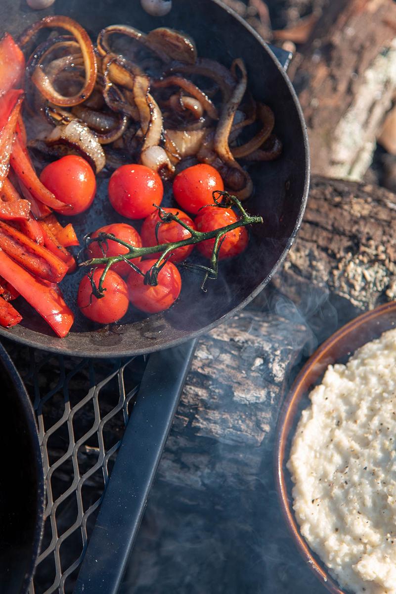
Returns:
[[[190,217],[182,213],[181,210],[177,210],[177,208],[163,208],[167,213],[177,214],[180,220],[186,225],[189,225],[192,229],[195,229],[194,222],[190,219]],[[155,228],[157,223],[160,223],[161,219],[159,218],[158,210],[155,213],[152,213],[145,221],[143,222],[142,229],[140,230],[140,235],[142,235],[142,242],[144,247],[148,247],[151,245],[158,245],[158,244],[171,244],[175,241],[181,241],[182,239],[188,239],[191,237],[191,233],[184,229],[179,223],[176,221],[171,221],[170,223],[161,223],[158,229],[158,241],[155,236]],[[185,245],[183,248],[177,248],[169,258],[172,262],[183,262],[186,258],[189,257],[191,252],[193,251],[193,245]],[[150,258],[159,258],[161,254],[150,254]]]

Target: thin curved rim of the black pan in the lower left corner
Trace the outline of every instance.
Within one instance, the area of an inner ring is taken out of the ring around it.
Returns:
[[[5,350],[4,346],[0,343],[0,359],[4,365],[12,384],[14,384],[15,391],[18,394],[20,405],[23,408],[24,416],[27,421],[28,431],[33,444],[33,455],[36,462],[36,479],[37,479],[37,525],[34,533],[34,541],[32,546],[31,561],[25,574],[24,583],[22,586],[21,594],[27,592],[31,578],[33,577],[34,566],[36,565],[36,559],[39,555],[41,538],[43,537],[44,530],[44,473],[43,473],[43,459],[41,457],[41,448],[39,443],[39,435],[37,431],[36,417],[34,415],[33,406],[31,405],[30,398],[28,397],[26,388],[21,379],[20,374],[15,368],[12,359]],[[34,429],[33,429],[34,428]]]

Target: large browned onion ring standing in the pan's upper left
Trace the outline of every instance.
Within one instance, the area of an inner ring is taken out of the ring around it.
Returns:
[[[40,93],[55,105],[72,106],[82,103],[90,96],[95,86],[97,75],[97,62],[95,59],[94,46],[87,31],[81,27],[76,21],[69,17],[50,16],[44,17],[41,21],[34,23],[27,29],[20,37],[20,44],[23,46],[27,43],[40,29],[48,27],[61,27],[66,31],[70,31],[77,40],[82,58],[84,59],[85,67],[85,84],[78,94],[72,97],[65,97],[58,93],[51,83],[49,77],[45,74],[43,68],[38,65],[33,72],[32,81],[39,89]]]

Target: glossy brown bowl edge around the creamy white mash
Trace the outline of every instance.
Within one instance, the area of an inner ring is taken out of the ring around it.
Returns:
[[[365,343],[381,336],[387,330],[396,327],[396,301],[381,305],[372,311],[359,315],[341,327],[328,338],[314,355],[308,359],[296,377],[286,400],[283,403],[277,426],[275,447],[275,483],[280,500],[283,517],[290,530],[302,558],[332,594],[347,594],[328,574],[327,567],[309,549],[301,536],[298,523],[293,512],[292,479],[286,468],[289,460],[290,445],[299,421],[301,410],[308,404],[308,394],[320,383],[328,365],[345,363],[350,355]]]

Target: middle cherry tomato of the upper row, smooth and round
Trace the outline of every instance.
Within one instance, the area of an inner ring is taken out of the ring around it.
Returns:
[[[127,219],[145,219],[159,206],[164,194],[158,173],[145,165],[122,165],[108,182],[108,198],[117,213]]]

